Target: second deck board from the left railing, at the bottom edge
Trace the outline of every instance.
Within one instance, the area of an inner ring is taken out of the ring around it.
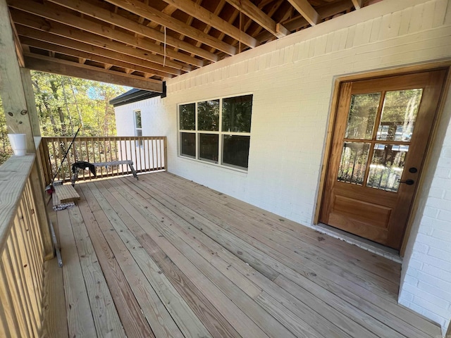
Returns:
[[[57,213],[69,337],[97,337],[67,210]]]

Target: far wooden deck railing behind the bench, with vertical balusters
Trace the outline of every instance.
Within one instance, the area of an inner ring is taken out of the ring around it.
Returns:
[[[43,137],[42,161],[47,184],[56,180],[68,182],[72,176],[70,166],[78,161],[105,163],[131,160],[137,173],[166,170],[166,137],[77,137],[66,160],[63,161],[72,137]],[[63,165],[61,165],[63,163]],[[59,166],[61,170],[56,173]],[[97,177],[130,174],[128,165],[109,165],[97,168]],[[80,173],[79,180],[92,180],[87,171]]]

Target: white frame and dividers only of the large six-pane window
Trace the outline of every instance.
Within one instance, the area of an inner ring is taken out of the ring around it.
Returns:
[[[254,104],[254,93],[244,93],[244,94],[233,94],[233,95],[228,95],[228,96],[219,96],[219,97],[213,97],[213,98],[209,98],[209,99],[199,99],[197,101],[187,101],[187,102],[183,102],[177,105],[177,137],[178,137],[178,157],[181,158],[186,158],[188,160],[193,160],[193,161],[197,161],[197,162],[202,162],[202,163],[208,163],[211,165],[216,165],[218,167],[221,168],[230,168],[230,169],[234,169],[234,170],[239,170],[242,171],[243,173],[247,173],[247,170],[249,169],[249,165],[247,166],[247,168],[245,167],[240,167],[239,165],[233,165],[230,163],[224,163],[223,161],[223,157],[224,157],[224,149],[223,149],[223,136],[224,135],[231,135],[231,136],[245,136],[245,137],[249,137],[249,151],[247,153],[247,159],[248,159],[248,163],[249,163],[249,154],[250,154],[250,137],[251,137],[251,132],[223,132],[222,131],[222,127],[223,127],[223,99],[229,99],[229,98],[233,98],[233,97],[240,97],[240,96],[249,96],[252,95],[252,105]],[[219,125],[218,125],[218,131],[212,131],[212,130],[199,130],[199,119],[197,116],[197,108],[198,108],[198,104],[199,102],[205,102],[205,101],[215,101],[215,100],[219,100]],[[188,105],[188,104],[194,104],[194,130],[182,130],[180,129],[180,106],[184,106],[184,105]],[[253,107],[252,107],[253,108]],[[253,113],[253,109],[251,111],[251,121],[250,121],[250,125],[251,125],[251,130],[252,130],[252,113]],[[182,154],[182,145],[181,145],[181,134],[182,133],[191,133],[191,134],[195,134],[195,156],[189,156],[187,154]],[[199,157],[199,135],[200,134],[215,134],[218,135],[218,161],[211,161],[209,159],[206,158],[200,158]]]

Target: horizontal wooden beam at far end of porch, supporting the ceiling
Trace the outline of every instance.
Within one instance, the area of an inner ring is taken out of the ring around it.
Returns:
[[[151,90],[152,92],[163,92],[162,81],[121,74],[112,70],[93,67],[92,65],[80,65],[80,63],[76,62],[56,60],[49,58],[49,56],[25,54],[25,65],[27,65],[27,68],[45,73],[81,77],[82,79],[120,84],[122,86]]]

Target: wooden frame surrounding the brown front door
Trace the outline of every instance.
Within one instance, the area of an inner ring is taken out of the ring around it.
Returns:
[[[445,83],[443,85],[442,93],[440,94],[440,100],[438,102],[438,108],[437,112],[435,113],[435,119],[433,122],[432,130],[431,130],[431,137],[428,140],[428,144],[426,146],[426,155],[424,158],[424,165],[423,165],[423,174],[419,178],[418,186],[416,188],[416,191],[414,193],[414,199],[412,202],[412,208],[409,212],[409,217],[407,220],[407,227],[404,231],[404,235],[402,238],[402,245],[400,249],[400,256],[404,256],[404,252],[406,250],[407,242],[409,240],[410,234],[412,232],[412,225],[413,221],[416,215],[416,212],[419,208],[419,195],[421,195],[421,192],[424,190],[424,178],[426,177],[426,173],[428,170],[431,169],[431,166],[435,165],[431,161],[431,149],[433,148],[433,145],[436,141],[437,136],[437,130],[438,130],[438,121],[442,118],[443,113],[443,106],[445,104],[446,94],[450,88],[451,85],[451,60],[447,61],[437,61],[433,63],[422,63],[418,65],[408,65],[408,66],[402,66],[397,68],[387,68],[383,70],[373,70],[365,73],[359,73],[359,74],[353,74],[353,75],[344,75],[335,77],[334,83],[333,83],[333,94],[332,99],[330,101],[330,111],[329,111],[329,118],[328,118],[328,127],[327,127],[327,133],[326,133],[326,142],[323,149],[323,161],[321,163],[321,176],[319,181],[319,188],[318,188],[318,195],[316,198],[316,207],[315,207],[315,214],[314,214],[314,225],[317,225],[319,223],[319,214],[321,211],[321,204],[324,197],[324,189],[326,187],[326,177],[328,172],[328,163],[330,159],[330,153],[332,151],[332,141],[333,141],[333,132],[335,129],[335,123],[336,123],[336,117],[337,117],[337,111],[338,111],[338,104],[339,104],[339,98],[340,98],[340,89],[343,82],[351,82],[351,81],[358,81],[358,80],[371,80],[381,77],[389,77],[389,76],[395,76],[395,75],[407,75],[412,73],[422,73],[422,72],[428,72],[431,70],[447,70],[447,74],[445,75]]]

